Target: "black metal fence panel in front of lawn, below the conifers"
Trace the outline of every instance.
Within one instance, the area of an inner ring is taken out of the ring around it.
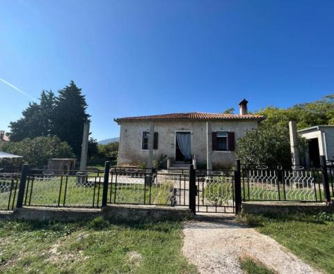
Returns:
[[[101,207],[103,171],[29,170],[24,206]]]

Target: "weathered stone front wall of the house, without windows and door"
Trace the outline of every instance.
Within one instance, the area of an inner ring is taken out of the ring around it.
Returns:
[[[244,136],[247,130],[255,129],[258,120],[212,121],[212,132],[234,132],[235,141]],[[138,165],[148,161],[148,150],[142,150],[143,131],[150,131],[148,121],[120,123],[120,147],[118,165]],[[197,163],[207,161],[207,121],[155,121],[154,132],[158,132],[158,149],[153,151],[153,159],[164,154],[175,159],[176,132],[191,133],[191,154],[196,155]],[[209,133],[211,136],[211,133]],[[209,147],[211,150],[211,147]],[[214,167],[230,167],[235,161],[234,151],[212,151]]]

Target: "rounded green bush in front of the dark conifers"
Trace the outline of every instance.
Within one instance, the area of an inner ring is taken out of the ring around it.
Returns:
[[[42,168],[51,158],[72,158],[72,148],[56,136],[25,138],[19,142],[3,142],[0,144],[3,152],[24,157],[30,166]]]

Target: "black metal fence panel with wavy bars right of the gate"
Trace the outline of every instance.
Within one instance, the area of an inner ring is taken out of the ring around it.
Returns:
[[[245,201],[326,201],[321,169],[301,166],[292,169],[243,166],[241,186]]]

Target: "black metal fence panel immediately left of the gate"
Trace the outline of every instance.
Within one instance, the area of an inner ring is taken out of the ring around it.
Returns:
[[[113,168],[109,174],[109,203],[189,205],[189,174],[175,170]]]

